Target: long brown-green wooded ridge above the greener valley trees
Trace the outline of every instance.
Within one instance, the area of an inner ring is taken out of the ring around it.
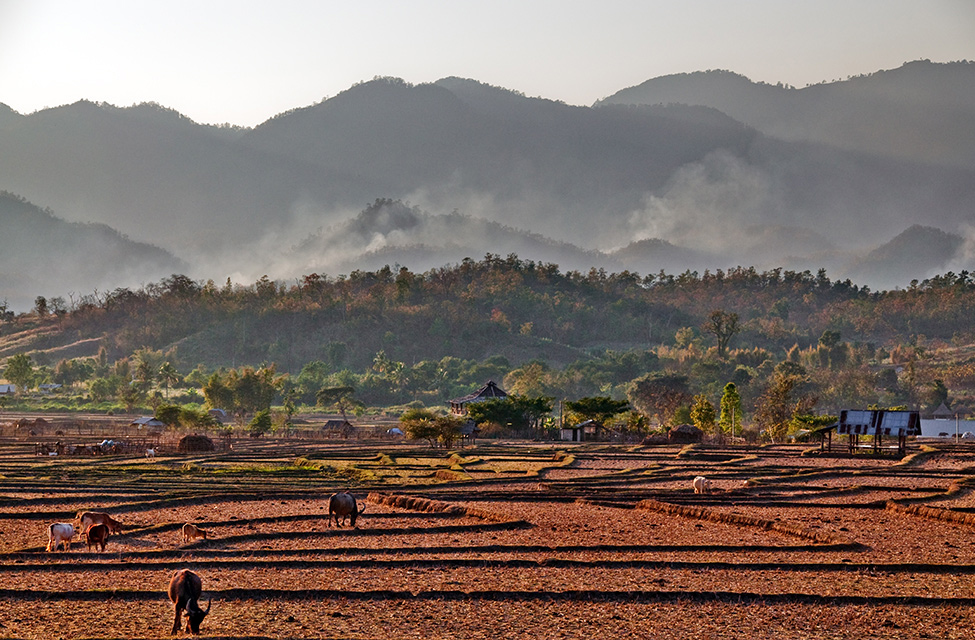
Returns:
[[[910,336],[967,338],[975,282],[968,272],[949,273],[871,292],[824,271],[739,267],[641,277],[562,273],[553,264],[488,255],[426,273],[385,267],[250,286],[174,275],[138,290],[58,299],[54,307],[38,301],[43,312],[58,309],[59,332],[37,348],[104,336],[112,359],[178,343],[180,358],[192,364],[274,361],[297,372],[312,360],[361,369],[380,350],[409,363],[505,355],[566,364],[580,350],[674,345],[678,330],[699,333],[716,309],[740,318],[737,346],[779,354],[814,345],[827,330],[877,346]],[[22,314],[0,331],[29,331],[39,322],[45,318]]]

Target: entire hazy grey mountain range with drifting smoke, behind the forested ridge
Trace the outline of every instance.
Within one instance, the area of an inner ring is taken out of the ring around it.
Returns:
[[[823,267],[906,286],[971,267],[973,94],[975,64],[918,61],[803,89],[680,74],[592,107],[377,78],[252,129],[153,103],[0,105],[4,238],[8,211],[37,205],[16,244],[43,265],[0,255],[0,299],[486,253],[640,273]],[[121,253],[100,259],[104,233],[55,240],[54,216],[110,228]]]

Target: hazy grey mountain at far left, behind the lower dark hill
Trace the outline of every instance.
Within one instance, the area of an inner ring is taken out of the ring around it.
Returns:
[[[0,129],[0,188],[174,250],[239,245],[287,223],[318,172],[237,137],[155,105],[82,101]]]

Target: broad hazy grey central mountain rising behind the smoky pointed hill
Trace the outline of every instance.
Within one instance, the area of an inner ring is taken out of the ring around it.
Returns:
[[[730,119],[703,127],[661,110],[596,111],[473,81],[444,84],[363,83],[241,142],[278,155],[290,149],[326,176],[369,176],[376,193],[432,210],[595,243],[618,240],[627,212],[678,167],[717,149],[743,152],[754,135]]]

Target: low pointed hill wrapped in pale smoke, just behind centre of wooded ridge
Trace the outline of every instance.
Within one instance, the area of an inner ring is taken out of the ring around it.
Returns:
[[[305,238],[282,256],[275,277],[297,273],[349,273],[384,265],[422,272],[465,258],[517,254],[570,270],[621,263],[598,251],[459,213],[430,214],[399,200],[380,199],[357,216]]]

